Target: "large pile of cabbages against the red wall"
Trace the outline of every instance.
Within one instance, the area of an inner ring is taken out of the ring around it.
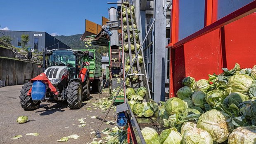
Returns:
[[[146,143],[256,144],[256,65],[223,71],[198,81],[184,78],[177,97],[161,102],[156,112],[165,130],[143,131],[151,132]]]

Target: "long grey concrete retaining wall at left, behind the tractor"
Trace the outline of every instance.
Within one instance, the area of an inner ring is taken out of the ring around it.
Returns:
[[[24,84],[25,79],[36,77],[42,72],[36,63],[0,58],[0,79],[5,80],[5,86]]]

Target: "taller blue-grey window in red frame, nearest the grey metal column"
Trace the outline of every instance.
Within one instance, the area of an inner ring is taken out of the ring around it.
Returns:
[[[179,0],[179,40],[204,28],[205,0]]]

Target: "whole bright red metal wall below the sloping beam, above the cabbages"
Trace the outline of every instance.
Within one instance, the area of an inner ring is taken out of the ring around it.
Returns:
[[[220,74],[222,67],[232,69],[235,63],[244,68],[256,65],[255,21],[253,13],[172,49],[170,97],[187,76],[208,79],[208,74]]]

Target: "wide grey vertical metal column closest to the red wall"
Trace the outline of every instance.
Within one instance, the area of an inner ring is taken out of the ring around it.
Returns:
[[[156,23],[153,31],[153,93],[155,102],[164,101],[166,72],[166,0],[154,1],[154,18]]]

